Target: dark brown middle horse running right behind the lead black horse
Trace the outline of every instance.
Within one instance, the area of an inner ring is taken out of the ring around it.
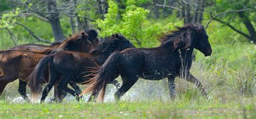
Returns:
[[[49,81],[48,85],[43,90],[41,103],[44,102],[46,96],[51,90],[52,86],[58,81],[57,89],[60,94],[61,91],[72,92],[73,96],[78,99],[79,93],[71,91],[66,85],[69,81],[83,84],[88,77],[83,77],[87,70],[96,68],[98,65],[102,65],[107,57],[109,57],[114,51],[122,51],[126,48],[134,47],[133,44],[127,40],[123,35],[113,34],[110,40],[104,41],[102,46],[94,49],[91,53],[79,53],[75,51],[59,51],[56,54],[44,57],[32,71],[29,76],[29,87],[32,92],[32,97],[36,98],[42,91],[41,81],[44,77],[44,69],[49,65]],[[63,77],[60,80],[59,77]],[[118,83],[112,81],[112,84]],[[58,96],[58,100],[61,102],[62,95]]]

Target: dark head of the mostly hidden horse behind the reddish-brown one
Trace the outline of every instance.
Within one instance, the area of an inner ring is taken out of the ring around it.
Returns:
[[[94,48],[99,47],[98,32],[95,29],[85,29],[84,31],[88,34],[88,40],[92,43],[92,46]]]

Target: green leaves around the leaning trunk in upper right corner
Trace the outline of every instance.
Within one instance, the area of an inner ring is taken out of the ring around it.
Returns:
[[[245,27],[243,22],[248,20],[252,26],[255,26],[255,6],[256,2],[250,0],[217,0],[213,1],[211,7],[207,8],[207,10],[213,14],[213,17],[217,16],[218,20],[224,21],[225,24],[234,26],[245,34],[249,34],[248,29]],[[242,17],[239,16],[239,13],[242,14]],[[205,14],[204,18],[210,19],[210,14]],[[223,26],[225,26],[225,24]]]

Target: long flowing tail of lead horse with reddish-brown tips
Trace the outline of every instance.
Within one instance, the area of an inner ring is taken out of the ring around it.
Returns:
[[[91,91],[93,93],[99,93],[99,91],[102,90],[102,93],[100,94],[100,100],[103,101],[106,85],[114,80],[114,70],[119,63],[120,58],[122,58],[122,54],[119,51],[115,51],[113,54],[111,54],[109,58],[107,58],[106,62],[96,71],[97,73],[95,77],[86,81],[86,83],[91,84],[91,86],[86,88],[86,90],[84,90],[81,94],[85,94]]]

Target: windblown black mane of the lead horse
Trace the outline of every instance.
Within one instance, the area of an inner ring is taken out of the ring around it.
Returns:
[[[161,42],[160,46],[171,43],[173,44],[171,46],[173,50],[181,46],[186,49],[190,47],[193,34],[203,31],[205,31],[203,25],[187,24],[183,27],[176,26],[176,30],[162,33],[161,36],[158,36],[158,40]]]

